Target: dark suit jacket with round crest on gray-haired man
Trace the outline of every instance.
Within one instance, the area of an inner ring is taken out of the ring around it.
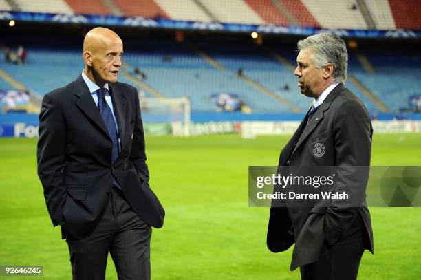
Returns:
[[[279,166],[369,166],[373,129],[367,109],[343,83],[337,85],[321,104],[310,122],[307,116],[281,151]],[[323,156],[314,154],[314,145],[325,147]],[[344,167],[345,168],[345,167]],[[368,169],[368,167],[367,167]],[[272,252],[288,250],[295,243],[291,270],[315,262],[323,244],[341,239],[357,215],[363,217],[367,249],[373,252],[373,233],[365,187],[368,173],[361,176],[352,169],[338,175],[335,191],[352,192],[363,197],[361,207],[347,207],[336,200],[328,207],[272,207],[267,245]]]

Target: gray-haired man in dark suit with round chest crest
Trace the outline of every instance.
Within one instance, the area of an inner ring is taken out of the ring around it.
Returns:
[[[343,39],[316,34],[300,40],[298,50],[294,75],[301,94],[313,103],[281,151],[279,170],[351,166],[350,172],[338,173],[335,190],[354,193],[363,202],[352,207],[341,200],[279,207],[272,201],[268,248],[281,252],[295,244],[290,269],[300,267],[301,279],[356,279],[364,250],[374,250],[365,203],[368,173],[357,174],[353,167],[370,164],[371,121],[363,103],[344,85],[348,55]]]

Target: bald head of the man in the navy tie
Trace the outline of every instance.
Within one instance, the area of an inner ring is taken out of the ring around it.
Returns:
[[[122,52],[122,40],[116,32],[108,28],[90,30],[83,40],[85,74],[99,87],[116,83]]]

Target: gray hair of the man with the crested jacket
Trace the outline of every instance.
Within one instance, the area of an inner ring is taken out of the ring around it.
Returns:
[[[332,63],[333,78],[336,83],[347,80],[348,53],[343,39],[334,34],[320,33],[309,36],[297,43],[298,51],[310,47],[317,68]]]

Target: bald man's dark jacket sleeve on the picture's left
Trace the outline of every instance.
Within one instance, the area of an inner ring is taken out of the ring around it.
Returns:
[[[63,223],[67,191],[63,186],[65,164],[65,120],[56,100],[50,94],[43,98],[39,114],[37,147],[38,176],[43,184],[47,210],[54,226]]]

